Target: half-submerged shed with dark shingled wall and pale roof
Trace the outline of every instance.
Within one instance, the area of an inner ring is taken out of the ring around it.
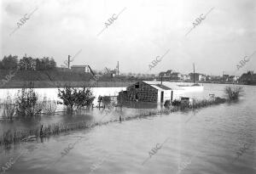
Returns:
[[[184,90],[170,81],[137,81],[124,92],[128,101],[164,103],[179,99]]]

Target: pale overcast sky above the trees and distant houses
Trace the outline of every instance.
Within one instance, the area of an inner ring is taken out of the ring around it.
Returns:
[[[255,0],[1,0],[0,10],[2,58],[49,56],[60,66],[82,50],[72,65],[102,70],[119,61],[120,72],[189,73],[195,62],[196,72],[222,75],[256,51]],[[97,36],[113,14],[118,19]],[[201,14],[207,18],[185,36]],[[150,62],[165,53],[149,71]],[[247,70],[256,71],[256,53],[236,75]]]

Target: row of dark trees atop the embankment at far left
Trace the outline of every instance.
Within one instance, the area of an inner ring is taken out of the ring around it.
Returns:
[[[56,68],[55,59],[44,57],[42,59],[24,56],[18,59],[18,56],[4,56],[0,60],[1,70],[53,70]]]

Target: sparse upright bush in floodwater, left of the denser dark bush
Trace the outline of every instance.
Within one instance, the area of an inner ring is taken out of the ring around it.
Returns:
[[[38,102],[38,95],[32,88],[22,88],[16,99],[16,115],[26,117],[39,115],[43,105]]]

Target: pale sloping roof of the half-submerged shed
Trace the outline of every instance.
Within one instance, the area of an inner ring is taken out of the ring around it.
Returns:
[[[171,81],[143,81],[150,85],[151,87],[154,87],[158,90],[184,90],[182,87],[178,87],[177,84],[174,84]]]

